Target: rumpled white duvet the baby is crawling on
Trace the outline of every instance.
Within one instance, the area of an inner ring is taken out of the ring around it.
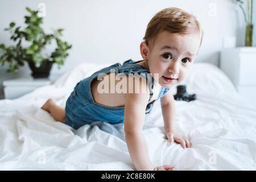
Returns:
[[[0,101],[1,170],[134,170],[123,125],[106,123],[79,130],[40,109],[49,98],[65,106],[77,82],[110,64],[82,64],[16,100]],[[255,170],[256,109],[243,100],[229,79],[214,65],[193,65],[187,80],[192,102],[176,101],[177,127],[192,148],[168,145],[160,102],[146,115],[144,137],[154,166],[177,170]],[[173,91],[176,92],[176,89]]]

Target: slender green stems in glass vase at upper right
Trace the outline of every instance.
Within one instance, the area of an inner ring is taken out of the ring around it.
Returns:
[[[244,0],[236,0],[246,23],[245,46],[253,46],[253,0],[247,0],[247,15],[243,9]]]

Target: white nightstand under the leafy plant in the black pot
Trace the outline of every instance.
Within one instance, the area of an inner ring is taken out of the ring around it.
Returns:
[[[13,80],[3,81],[3,90],[5,98],[14,99],[23,96],[40,86],[50,85],[51,80],[48,78],[16,78]]]

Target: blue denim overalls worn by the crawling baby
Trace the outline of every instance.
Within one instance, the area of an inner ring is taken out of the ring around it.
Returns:
[[[87,77],[77,83],[66,102],[64,123],[73,127],[74,129],[78,129],[83,125],[96,121],[108,122],[111,124],[122,123],[124,119],[125,107],[105,106],[95,102],[91,93],[90,83],[94,78],[97,78],[100,73],[110,73],[110,69],[114,69],[115,73],[124,73],[125,75],[129,75],[129,73],[150,73],[147,69],[142,67],[142,65],[134,64],[138,62],[140,61],[134,62],[130,59],[123,62],[123,65],[120,63],[115,63],[109,67],[103,68],[100,71],[93,73],[92,76]],[[152,89],[154,88],[154,78],[151,77],[151,75],[150,78],[151,99]],[[158,98],[163,97],[164,94],[168,92],[168,90],[169,89],[162,87]],[[158,98],[156,98],[156,100],[158,100]],[[147,105],[145,111],[146,114],[150,113],[156,100],[150,102],[150,104]]]

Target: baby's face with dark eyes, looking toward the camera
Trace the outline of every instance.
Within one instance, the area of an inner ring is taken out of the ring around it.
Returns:
[[[145,64],[153,77],[154,73],[159,73],[158,82],[161,86],[171,88],[184,80],[199,47],[200,33],[181,36],[163,31],[156,37],[154,45],[145,46],[148,60]]]

